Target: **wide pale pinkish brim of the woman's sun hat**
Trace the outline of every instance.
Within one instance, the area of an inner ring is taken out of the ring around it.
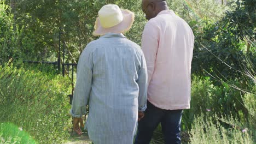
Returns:
[[[92,33],[95,36],[98,35],[104,35],[106,33],[124,33],[126,31],[129,31],[129,29],[132,26],[132,23],[134,22],[135,15],[130,10],[124,10],[121,9],[124,19],[122,22],[120,22],[118,25],[104,28],[101,26],[101,22],[99,18],[97,17],[94,29],[95,31]]]

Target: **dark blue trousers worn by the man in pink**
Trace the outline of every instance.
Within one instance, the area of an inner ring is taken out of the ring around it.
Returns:
[[[165,143],[181,143],[181,119],[183,110],[162,110],[147,103],[144,118],[138,122],[135,144],[149,144],[153,132],[161,123]]]

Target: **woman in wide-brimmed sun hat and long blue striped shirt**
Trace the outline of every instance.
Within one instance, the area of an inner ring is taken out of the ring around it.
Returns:
[[[79,58],[71,115],[74,130],[81,135],[78,122],[89,104],[85,127],[95,144],[133,143],[136,123],[147,107],[144,55],[123,35],[133,21],[131,11],[104,5],[93,33],[101,37],[89,43]]]

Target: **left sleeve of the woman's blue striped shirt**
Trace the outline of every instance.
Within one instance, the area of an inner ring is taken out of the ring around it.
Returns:
[[[77,65],[77,82],[75,84],[72,100],[72,109],[70,111],[73,117],[82,117],[86,114],[86,105],[91,92],[92,81],[92,53],[90,47],[86,46],[82,55],[79,57]]]

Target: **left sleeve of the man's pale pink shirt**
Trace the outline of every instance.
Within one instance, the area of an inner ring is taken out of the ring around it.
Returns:
[[[148,68],[148,83],[150,83],[154,68],[159,44],[159,28],[149,21],[142,34],[142,51],[146,58]]]

